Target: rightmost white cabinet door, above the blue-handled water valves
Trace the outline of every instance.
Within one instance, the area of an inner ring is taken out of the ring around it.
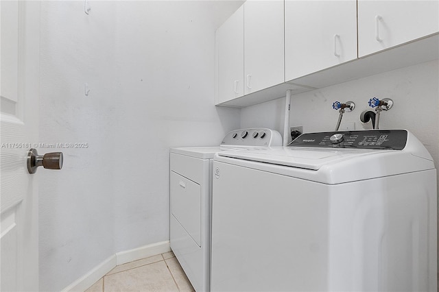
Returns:
[[[358,55],[439,32],[439,1],[358,0]]]

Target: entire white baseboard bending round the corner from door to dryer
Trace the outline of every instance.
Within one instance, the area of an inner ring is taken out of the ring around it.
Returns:
[[[62,291],[86,291],[86,289],[95,284],[97,280],[104,277],[106,273],[111,271],[114,267],[116,267],[116,265],[122,265],[132,262],[133,260],[140,260],[141,258],[156,256],[157,254],[163,254],[164,252],[170,251],[171,246],[169,245],[169,241],[162,241],[159,243],[137,247],[133,250],[127,250],[125,252],[117,252],[88,271],[88,273],[86,273],[84,276],[62,289]]]

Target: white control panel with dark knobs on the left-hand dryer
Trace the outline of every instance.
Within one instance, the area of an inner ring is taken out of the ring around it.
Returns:
[[[279,132],[266,128],[250,128],[228,132],[221,145],[237,146],[282,146]]]

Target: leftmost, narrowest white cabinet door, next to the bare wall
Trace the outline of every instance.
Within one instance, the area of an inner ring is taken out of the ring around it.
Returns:
[[[215,104],[244,95],[244,6],[215,33],[217,98]]]

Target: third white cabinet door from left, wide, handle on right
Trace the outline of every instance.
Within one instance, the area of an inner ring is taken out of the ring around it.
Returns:
[[[285,80],[357,58],[357,1],[285,0]]]

